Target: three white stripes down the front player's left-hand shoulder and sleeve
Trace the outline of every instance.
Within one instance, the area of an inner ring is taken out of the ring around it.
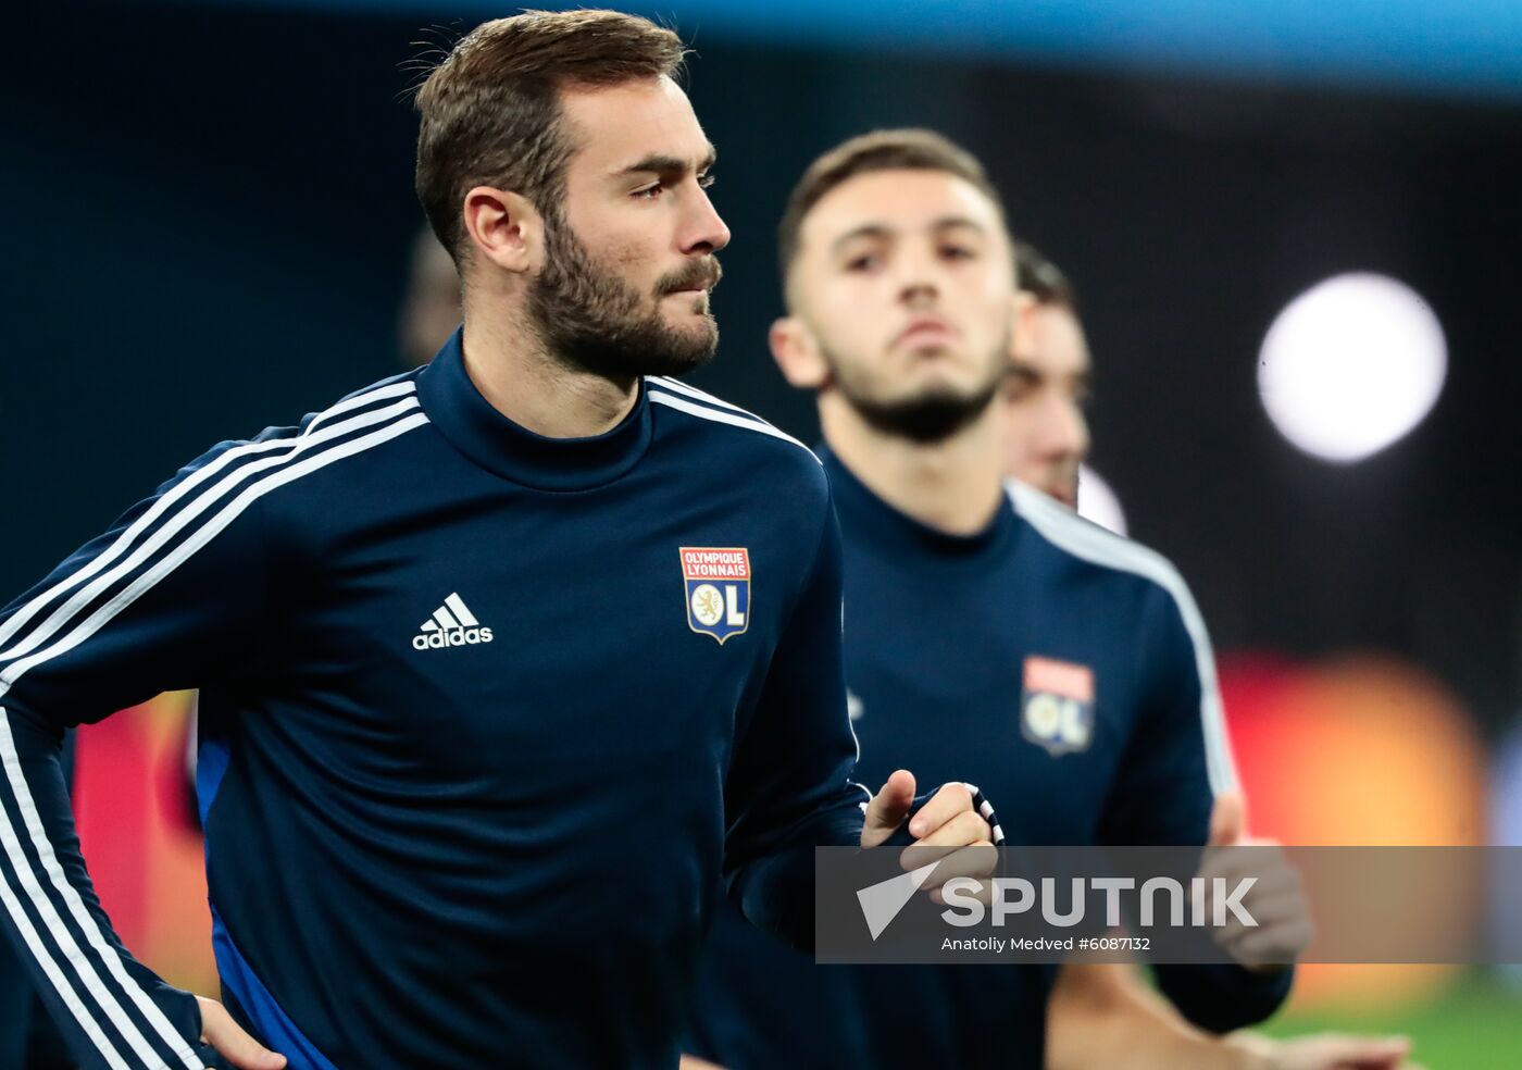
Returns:
[[[123,609],[131,606],[139,597],[142,597],[146,591],[149,591],[154,584],[157,584],[164,575],[178,568],[201,546],[210,542],[222,528],[231,524],[239,513],[242,513],[245,508],[248,508],[250,504],[253,504],[263,495],[269,493],[271,490],[280,486],[285,486],[286,482],[298,479],[303,475],[315,472],[320,467],[332,464],[333,461],[342,460],[344,457],[352,457],[358,452],[362,452],[364,449],[370,449],[371,446],[396,438],[397,435],[402,435],[411,431],[412,428],[426,423],[428,422],[426,416],[423,416],[422,412],[414,412],[411,416],[396,420],[394,423],[388,423],[379,428],[377,431],[373,431],[367,435],[350,440],[332,449],[326,451],[318,449],[320,446],[344,434],[358,431],[361,428],[373,426],[376,423],[382,423],[384,420],[400,416],[408,409],[417,409],[419,408],[417,399],[411,397],[411,394],[414,393],[416,387],[411,381],[408,381],[403,384],[391,384],[387,387],[380,387],[370,393],[350,397],[349,400],[335,405],[332,409],[314,419],[312,423],[307,425],[307,428],[303,431],[300,437],[271,440],[265,443],[250,443],[247,446],[234,447],[231,451],[227,451],[222,457],[216,458],[216,461],[207,464],[204,469],[199,469],[198,472],[192,473],[184,481],[172,487],[169,492],[164,493],[163,498],[160,498],[158,502],[155,502],[148,511],[145,511],[145,514],[139,517],[137,522],[129,525],[128,530],[123,531],[108,549],[102,551],[102,554],[96,560],[90,562],[90,565],[87,565],[79,572],[65,577],[55,588],[41,592],[24,607],[21,607],[17,612],[15,618],[8,621],[6,627],[0,630],[0,642],[6,642],[11,638],[14,638],[29,619],[32,619],[38,612],[41,612],[43,607],[46,607],[47,603],[50,603],[59,594],[67,591],[70,586],[79,583],[82,578],[88,578],[88,575],[99,572],[111,560],[120,557],[126,551],[126,548],[132,543],[132,540],[137,536],[140,536],[151,524],[154,524],[158,517],[167,513],[178,501],[189,496],[190,492],[195,490],[198,486],[207,482],[212,478],[212,475],[227,469],[233,463],[234,457],[248,457],[253,454],[279,449],[280,446],[292,446],[292,449],[289,449],[282,457],[257,461],[254,464],[244,466],[228,473],[222,481],[219,481],[216,486],[213,486],[210,490],[201,495],[195,502],[192,502],[184,511],[175,516],[174,521],[166,524],[164,528],[154,533],[154,536],[149,540],[146,540],[142,546],[139,546],[139,549],[134,554],[131,554],[122,565],[111,569],[105,575],[100,575],[94,583],[88,584],[88,588],[76,589],[75,595],[64,606],[55,610],[41,626],[38,626],[35,633],[18,642],[11,650],[0,653],[0,661],[3,661],[8,658],[17,658],[20,654],[24,654],[29,650],[35,650],[41,642],[46,642],[53,633],[56,633],[65,624],[68,624],[70,619],[76,616],[84,609],[84,606],[87,606],[90,601],[99,597],[99,594],[102,594],[105,588],[108,588],[111,583],[114,583],[117,578],[120,578],[131,569],[142,565],[143,560],[146,560],[152,553],[155,553],[164,543],[167,543],[169,539],[172,539],[180,530],[183,530],[192,519],[209,510],[221,498],[222,493],[225,493],[233,486],[236,486],[237,482],[240,482],[244,478],[247,478],[254,472],[269,467],[282,469],[247,487],[242,493],[239,493],[233,499],[233,502],[219,510],[202,527],[196,528],[184,542],[181,542],[177,548],[174,548],[169,554],[166,554],[163,560],[160,560],[143,575],[140,575],[137,580],[128,584],[114,598],[111,598],[110,603],[97,609],[94,613],[91,613],[90,618],[87,618],[82,624],[75,627],[67,636],[64,636],[62,639],[59,639],[46,650],[33,653],[30,658],[21,658],[20,661],[14,662],[3,674],[0,674],[0,697],[3,697],[3,694],[15,683],[15,680],[23,673],[26,673],[27,668],[43,661],[47,661],[49,658],[55,658],[61,653],[65,653],[67,650],[72,650],[79,642],[84,642],[87,638],[94,635],[94,632],[103,627],[107,621],[110,621],[113,616],[116,616]],[[390,405],[382,409],[365,412],[350,420],[335,423],[330,428],[326,428],[320,434],[312,434],[317,425],[321,423],[323,420],[368,405],[374,400],[384,400],[387,397],[403,396],[403,394],[409,397],[405,397],[402,402],[397,402],[396,405]],[[301,463],[291,464],[291,461],[295,457],[309,451],[317,451],[317,452],[315,455],[307,457],[307,460]],[[37,849],[43,871],[47,875],[49,883],[56,889],[58,895],[62,898],[64,904],[68,909],[70,916],[82,930],[85,941],[99,954],[107,971],[122,986],[128,998],[143,1014],[143,1017],[148,1020],[149,1026],[160,1037],[160,1040],[163,1040],[163,1043],[167,1044],[175,1052],[175,1055],[184,1062],[187,1070],[199,1070],[201,1059],[196,1058],[196,1055],[190,1050],[190,1047],[178,1037],[174,1026],[164,1017],[163,1011],[158,1009],[158,1006],[148,997],[148,994],[142,989],[142,986],[139,986],[135,982],[132,982],[131,977],[128,977],[126,970],[122,965],[120,956],[105,941],[99,925],[96,925],[94,919],[85,909],[84,901],[79,896],[79,892],[64,877],[62,868],[58,863],[58,857],[53,852],[53,846],[49,842],[47,834],[43,828],[41,817],[37,813],[37,805],[30,796],[30,788],[27,787],[26,778],[21,773],[20,755],[17,753],[15,740],[11,734],[9,715],[5,712],[3,706],[0,706],[0,760],[3,760],[5,764],[5,782],[9,785],[11,791],[17,799],[17,807],[21,813],[26,833],[32,840],[33,848]],[[132,1049],[132,1053],[143,1062],[143,1065],[154,1067],[154,1070],[160,1070],[161,1067],[164,1067],[163,1059],[157,1056],[157,1053],[149,1046],[148,1040],[137,1030],[132,1021],[126,1017],[126,1012],[122,1008],[122,1005],[114,998],[114,995],[105,986],[99,973],[96,973],[94,965],[90,962],[90,957],[79,947],[78,941],[75,939],[70,928],[65,925],[62,916],[58,913],[52,900],[40,886],[37,874],[32,871],[32,866],[26,858],[21,843],[15,836],[15,830],[11,826],[11,822],[8,820],[0,820],[0,845],[3,845],[6,857],[11,861],[11,866],[17,871],[17,877],[23,889],[30,896],[33,909],[44,921],[53,941],[58,944],[65,959],[68,960],[68,965],[73,967],[75,974],[81,979],[85,989],[94,998],[96,1005],[100,1006],[100,1009],[107,1014],[110,1021],[120,1030],[122,1037],[128,1041],[129,1047]],[[29,950],[32,950],[32,953],[41,962],[44,973],[53,983],[55,989],[59,992],[59,997],[79,1020],[81,1027],[90,1037],[91,1043],[96,1044],[97,1050],[100,1050],[102,1056],[107,1059],[107,1064],[111,1065],[113,1068],[122,1067],[123,1070],[126,1070],[126,1064],[122,1061],[120,1053],[114,1049],[110,1038],[105,1037],[103,1030],[94,1021],[93,1015],[78,998],[78,994],[73,991],[72,985],[68,983],[62,971],[58,968],[56,962],[53,962],[46,945],[32,928],[30,921],[27,919],[20,901],[17,901],[9,886],[5,886],[3,892],[0,892],[0,900],[3,900],[6,910],[11,913],[12,919],[17,922],[17,927],[21,930],[23,939],[26,939]]]

